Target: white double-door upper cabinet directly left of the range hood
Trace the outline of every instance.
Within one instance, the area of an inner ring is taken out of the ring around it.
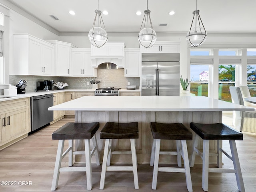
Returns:
[[[92,68],[91,49],[72,49],[72,76],[97,77],[97,68]]]

